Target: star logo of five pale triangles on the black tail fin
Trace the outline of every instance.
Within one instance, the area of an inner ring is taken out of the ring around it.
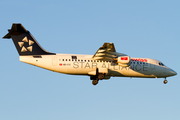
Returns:
[[[28,47],[23,46],[24,43],[28,43],[29,46]],[[33,50],[33,46],[31,45],[34,44],[34,42],[32,40],[28,40],[27,37],[24,37],[22,39],[22,42],[18,42],[18,44],[19,44],[19,47],[21,48],[21,52],[26,52],[26,51],[32,52]]]

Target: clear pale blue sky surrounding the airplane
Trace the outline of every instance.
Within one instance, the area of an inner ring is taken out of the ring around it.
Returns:
[[[154,58],[175,70],[167,78],[51,72],[19,61],[0,40],[0,120],[179,120],[179,0],[1,0],[0,36],[22,23],[50,52],[94,54],[104,42],[131,57]]]

